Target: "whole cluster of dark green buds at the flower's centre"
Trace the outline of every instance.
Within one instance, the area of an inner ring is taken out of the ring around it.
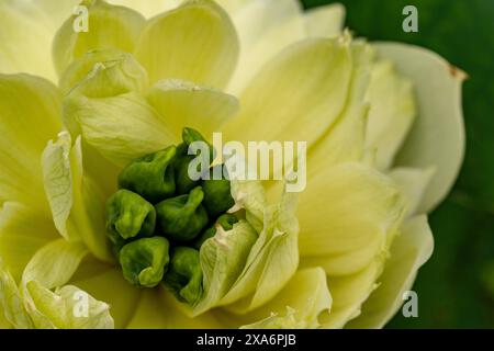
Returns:
[[[202,295],[201,246],[218,226],[229,230],[238,218],[226,214],[235,204],[228,180],[213,180],[211,166],[209,180],[189,177],[198,157],[188,155],[189,146],[205,139],[184,128],[182,140],[122,170],[120,190],[106,202],[106,236],[130,283],[164,283],[179,301],[194,305]]]

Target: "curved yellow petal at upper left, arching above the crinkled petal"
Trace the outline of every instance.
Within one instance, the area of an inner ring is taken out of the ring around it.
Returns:
[[[88,31],[75,31],[79,14],[74,14],[58,30],[53,43],[53,59],[58,73],[92,49],[117,48],[132,53],[145,25],[134,10],[101,0],[83,3],[89,9]]]

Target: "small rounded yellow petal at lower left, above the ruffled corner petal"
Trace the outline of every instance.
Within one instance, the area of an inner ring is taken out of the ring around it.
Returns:
[[[22,285],[37,281],[46,288],[66,284],[76,272],[88,250],[81,244],[54,240],[33,256],[22,274]]]

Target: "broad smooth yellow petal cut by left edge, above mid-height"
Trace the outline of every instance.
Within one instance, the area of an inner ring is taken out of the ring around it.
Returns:
[[[41,154],[60,128],[55,86],[27,75],[0,75],[0,201],[47,210]]]

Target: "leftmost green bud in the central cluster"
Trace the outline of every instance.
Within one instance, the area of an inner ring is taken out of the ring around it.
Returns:
[[[106,202],[106,235],[117,247],[124,240],[151,236],[156,211],[146,200],[128,190],[119,190]]]

